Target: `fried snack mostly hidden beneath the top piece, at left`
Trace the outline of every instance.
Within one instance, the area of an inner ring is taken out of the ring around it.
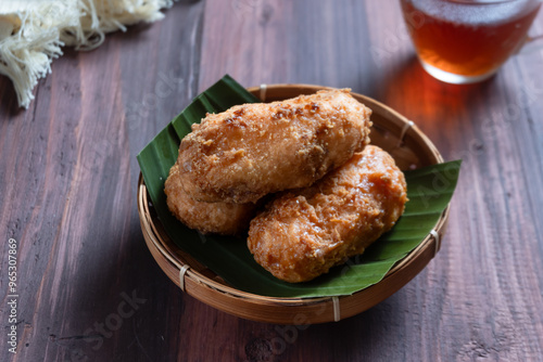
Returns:
[[[254,204],[197,202],[181,188],[178,171],[174,165],[164,184],[168,208],[177,219],[205,234],[237,235],[249,229],[256,210]]]

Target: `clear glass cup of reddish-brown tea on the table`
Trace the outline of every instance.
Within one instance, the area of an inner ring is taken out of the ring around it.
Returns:
[[[528,39],[542,0],[400,0],[422,67],[450,83],[492,76]]]

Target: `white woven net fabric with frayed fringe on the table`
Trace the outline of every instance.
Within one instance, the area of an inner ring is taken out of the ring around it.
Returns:
[[[173,0],[2,0],[0,74],[8,76],[18,105],[27,108],[39,78],[51,72],[62,47],[91,50],[106,33],[164,17]]]

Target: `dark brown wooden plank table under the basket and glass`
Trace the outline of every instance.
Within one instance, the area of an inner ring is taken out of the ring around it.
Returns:
[[[0,78],[0,360],[542,361],[542,64],[535,50],[451,86],[416,61],[395,1],[207,0],[65,49],[27,111]],[[139,225],[136,155],[226,73],[352,88],[464,159],[442,249],[418,276],[362,314],[296,328],[216,311],[164,275]]]

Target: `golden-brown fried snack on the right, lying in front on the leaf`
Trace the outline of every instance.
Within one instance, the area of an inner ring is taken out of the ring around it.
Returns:
[[[310,281],[364,253],[394,225],[406,201],[402,171],[368,145],[311,188],[270,202],[251,221],[248,246],[276,277]]]

